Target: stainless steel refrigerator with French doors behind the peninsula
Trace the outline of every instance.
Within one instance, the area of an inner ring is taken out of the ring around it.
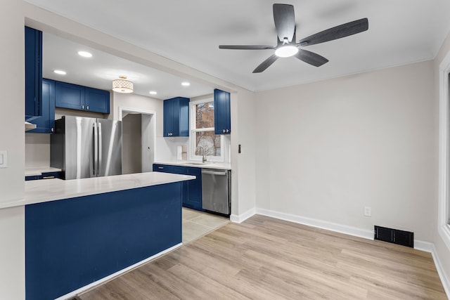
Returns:
[[[55,121],[50,165],[65,179],[122,174],[122,121],[65,116]]]

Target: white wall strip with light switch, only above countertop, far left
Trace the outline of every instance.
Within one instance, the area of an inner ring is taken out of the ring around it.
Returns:
[[[8,151],[8,168],[0,169],[0,202],[9,202],[23,196],[24,184],[25,33],[21,1],[2,2],[0,20],[0,36],[4,41],[0,82],[8,86],[1,93],[0,150]]]

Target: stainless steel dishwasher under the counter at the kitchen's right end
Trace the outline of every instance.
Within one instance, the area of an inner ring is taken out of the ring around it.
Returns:
[[[231,172],[229,170],[202,169],[202,207],[206,211],[229,215]]]

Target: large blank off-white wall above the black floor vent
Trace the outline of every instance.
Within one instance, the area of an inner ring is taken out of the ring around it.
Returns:
[[[257,207],[432,242],[433,95],[431,61],[257,93]]]

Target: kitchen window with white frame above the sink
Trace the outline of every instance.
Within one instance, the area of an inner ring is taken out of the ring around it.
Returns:
[[[223,162],[224,138],[214,134],[214,101],[198,100],[191,107],[191,159],[201,160],[203,151],[210,162]]]

